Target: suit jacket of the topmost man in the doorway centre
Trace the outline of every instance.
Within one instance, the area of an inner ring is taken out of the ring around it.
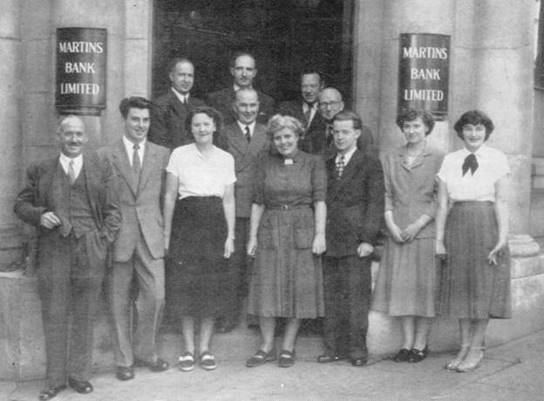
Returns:
[[[206,103],[218,110],[223,116],[223,124],[225,126],[236,121],[236,114],[232,109],[234,93],[234,88],[231,86],[209,93],[206,97]],[[259,115],[257,116],[257,122],[266,125],[268,119],[274,114],[274,99],[259,90],[257,90],[257,94],[259,96]]]

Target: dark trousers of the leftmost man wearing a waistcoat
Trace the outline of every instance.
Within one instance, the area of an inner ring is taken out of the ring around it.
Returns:
[[[67,376],[89,380],[93,323],[105,270],[105,247],[95,231],[80,238],[58,232],[40,238],[38,292],[42,303],[47,384]]]

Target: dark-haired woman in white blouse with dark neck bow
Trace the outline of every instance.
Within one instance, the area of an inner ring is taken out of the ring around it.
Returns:
[[[506,156],[485,144],[493,122],[478,110],[454,129],[464,148],[444,158],[438,172],[436,253],[446,255],[438,309],[459,319],[461,349],[446,369],[468,372],[483,358],[490,318],[510,317]]]

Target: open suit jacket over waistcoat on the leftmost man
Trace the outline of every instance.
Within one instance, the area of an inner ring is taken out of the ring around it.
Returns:
[[[59,158],[55,157],[32,164],[27,170],[27,183],[15,200],[14,210],[17,216],[38,228],[40,247],[51,244],[51,241],[42,239],[59,230],[59,227],[50,230],[40,225],[41,215],[48,211],[54,212],[60,197],[64,196],[55,192],[58,187],[52,185],[59,163]],[[85,174],[86,195],[98,228],[98,237],[104,244],[111,243],[115,240],[121,225],[121,211],[114,191],[111,165],[105,160],[100,160],[96,153],[84,153],[82,172]],[[106,246],[97,249],[104,258],[106,251]],[[44,252],[47,254],[46,249],[40,249],[41,254]]]

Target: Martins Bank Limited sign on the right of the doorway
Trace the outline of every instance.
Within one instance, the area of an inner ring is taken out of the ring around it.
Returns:
[[[414,108],[441,119],[448,113],[450,37],[400,35],[398,110]]]

